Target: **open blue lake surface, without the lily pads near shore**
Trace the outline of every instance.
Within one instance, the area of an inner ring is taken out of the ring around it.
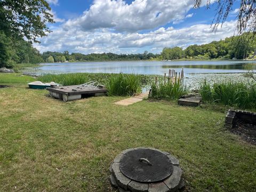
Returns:
[[[245,73],[248,66],[256,69],[256,61],[114,61],[114,62],[75,62],[43,63],[37,73],[168,73],[168,69],[185,75],[206,73]]]

